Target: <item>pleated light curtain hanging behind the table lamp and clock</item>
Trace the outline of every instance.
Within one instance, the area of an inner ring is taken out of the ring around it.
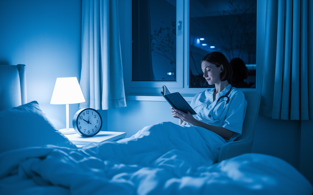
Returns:
[[[117,0],[82,1],[80,108],[126,106]]]

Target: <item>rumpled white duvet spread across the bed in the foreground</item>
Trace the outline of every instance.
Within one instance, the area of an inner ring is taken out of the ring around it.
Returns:
[[[218,138],[175,125],[151,125],[131,138],[80,149],[44,145],[2,153],[0,193],[312,194],[311,184],[276,157],[244,154],[213,164],[208,143],[218,148]]]

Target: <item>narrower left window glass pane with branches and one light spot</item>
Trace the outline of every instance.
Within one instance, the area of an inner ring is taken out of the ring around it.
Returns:
[[[133,0],[132,80],[176,81],[176,0]]]

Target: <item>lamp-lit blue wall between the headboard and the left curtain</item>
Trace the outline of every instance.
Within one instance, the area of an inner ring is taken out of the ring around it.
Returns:
[[[80,80],[81,1],[1,0],[0,28],[0,64],[25,64],[28,102],[37,100],[65,128],[65,105],[50,100],[57,77]],[[70,105],[69,115],[77,110]]]

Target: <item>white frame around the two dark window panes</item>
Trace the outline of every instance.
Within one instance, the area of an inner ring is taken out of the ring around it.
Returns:
[[[132,81],[132,0],[119,0],[121,53],[126,96],[162,96],[162,85],[171,92],[179,92],[184,97],[193,97],[206,88],[189,88],[189,0],[177,0],[176,24],[182,21],[182,30],[176,41],[176,81]],[[241,91],[260,93],[264,58],[266,0],[257,0],[257,67],[256,88],[239,88]],[[176,25],[177,29],[177,25]],[[153,100],[153,97],[131,100]],[[160,98],[154,98],[159,101]],[[164,98],[163,98],[164,99]]]

